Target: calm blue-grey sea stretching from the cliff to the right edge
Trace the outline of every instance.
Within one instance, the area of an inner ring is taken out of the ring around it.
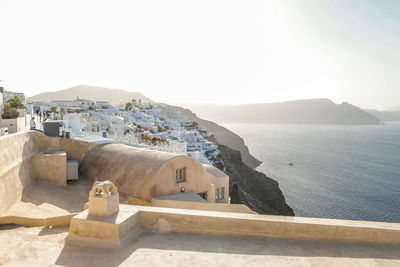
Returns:
[[[400,222],[400,123],[223,126],[263,162],[257,170],[279,182],[296,216]]]

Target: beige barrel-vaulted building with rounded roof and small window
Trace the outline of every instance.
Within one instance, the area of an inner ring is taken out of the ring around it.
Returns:
[[[176,183],[176,169],[186,167],[186,182]],[[82,160],[82,175],[92,180],[111,180],[119,191],[150,202],[155,196],[211,190],[210,178],[195,159],[119,144],[99,146]]]

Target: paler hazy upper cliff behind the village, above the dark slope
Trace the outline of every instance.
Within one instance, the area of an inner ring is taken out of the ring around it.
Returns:
[[[214,135],[216,143],[240,151],[243,162],[248,167],[254,169],[261,164],[261,162],[258,159],[256,159],[250,154],[249,148],[245,145],[243,139],[239,135],[229,131],[228,129],[222,127],[221,125],[216,124],[215,122],[198,118],[197,115],[194,114],[189,109],[184,109],[175,106],[171,107],[179,111],[186,118],[189,118],[192,121],[195,121],[198,124],[206,127]]]

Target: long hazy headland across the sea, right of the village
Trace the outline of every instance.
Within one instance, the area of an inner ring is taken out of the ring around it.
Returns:
[[[378,124],[379,119],[349,103],[306,99],[271,104],[188,106],[219,123]]]

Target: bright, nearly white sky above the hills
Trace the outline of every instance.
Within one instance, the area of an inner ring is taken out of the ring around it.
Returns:
[[[400,105],[400,1],[0,0],[0,80],[182,103]]]

